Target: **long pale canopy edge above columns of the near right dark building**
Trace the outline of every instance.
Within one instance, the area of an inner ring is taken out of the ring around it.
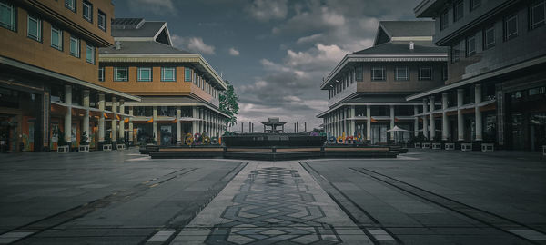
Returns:
[[[438,88],[434,88],[434,89],[424,91],[424,92],[421,92],[421,93],[415,93],[415,94],[412,94],[412,95],[406,97],[406,101],[417,100],[417,99],[420,99],[422,97],[429,96],[429,95],[432,95],[432,94],[435,94],[435,93],[443,93],[445,91],[455,89],[455,88],[458,88],[460,86],[468,85],[468,84],[471,84],[471,83],[478,83],[478,82],[480,82],[480,81],[482,81],[484,79],[489,79],[489,78],[492,78],[492,77],[495,77],[495,76],[500,76],[500,75],[503,75],[503,74],[506,74],[506,73],[511,73],[511,72],[515,72],[515,71],[518,71],[518,70],[521,70],[521,69],[525,69],[525,68],[531,67],[533,65],[544,64],[544,63],[546,63],[546,56],[541,56],[539,58],[535,58],[535,59],[531,59],[531,60],[528,60],[528,61],[525,61],[525,62],[521,62],[519,64],[513,64],[513,65],[508,66],[508,67],[504,67],[504,68],[501,68],[501,69],[498,69],[498,70],[494,70],[494,71],[491,71],[489,73],[483,73],[483,74],[480,74],[480,75],[477,75],[477,76],[473,76],[473,77],[470,77],[470,78],[467,78],[467,79],[463,79],[463,80],[460,80],[459,82],[456,82],[456,83],[450,83],[448,85],[443,85],[443,86],[440,86]]]

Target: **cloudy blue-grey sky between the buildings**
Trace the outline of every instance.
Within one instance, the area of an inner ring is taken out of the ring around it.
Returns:
[[[167,21],[178,48],[203,54],[232,83],[238,123],[278,116],[319,127],[322,78],[373,43],[379,20],[414,19],[420,0],[114,0],[116,17]],[[240,130],[238,124],[233,130]]]

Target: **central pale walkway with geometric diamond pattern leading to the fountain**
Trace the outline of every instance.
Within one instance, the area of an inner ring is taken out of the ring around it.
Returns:
[[[250,162],[171,244],[283,241],[372,244],[298,162]]]

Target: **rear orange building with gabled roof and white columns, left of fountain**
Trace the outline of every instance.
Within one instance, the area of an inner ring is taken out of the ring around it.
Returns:
[[[227,84],[200,54],[173,47],[167,23],[115,19],[112,35],[116,44],[100,49],[96,84],[142,98],[114,102],[133,117],[112,121],[113,139],[176,145],[186,143],[188,133],[225,131],[218,99]]]

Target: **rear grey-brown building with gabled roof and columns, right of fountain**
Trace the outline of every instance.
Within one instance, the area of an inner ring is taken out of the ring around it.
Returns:
[[[413,115],[430,108],[405,98],[443,84],[448,55],[431,44],[433,32],[430,21],[380,22],[374,45],[347,54],[321,84],[329,92],[329,110],[318,115],[325,132],[380,144],[394,140],[387,131],[395,125],[409,131],[400,141],[429,130]]]

